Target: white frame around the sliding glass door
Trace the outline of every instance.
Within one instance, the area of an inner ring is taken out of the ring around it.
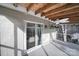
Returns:
[[[24,21],[24,25],[25,25],[25,29],[24,29],[24,50],[25,51],[28,51],[28,50],[38,46],[38,44],[37,44],[38,40],[37,40],[36,35],[35,35],[35,46],[32,47],[32,48],[27,49],[27,29],[26,29],[27,28],[27,23],[34,23],[35,24],[35,34],[37,34],[37,30],[36,30],[37,29],[37,24],[42,25],[43,26],[43,30],[44,30],[44,23],[33,22],[33,21],[26,21],[26,20]],[[43,30],[41,32],[43,32]],[[42,33],[41,33],[41,35],[42,35]]]

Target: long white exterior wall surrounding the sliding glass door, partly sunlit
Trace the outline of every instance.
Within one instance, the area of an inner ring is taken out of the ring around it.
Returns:
[[[39,22],[49,25],[48,21],[34,17],[29,14],[24,14],[18,11],[0,7],[0,49],[3,56],[22,55],[24,50],[24,32],[25,22]],[[49,29],[43,33],[50,32]],[[48,40],[50,37],[44,35],[42,39]]]

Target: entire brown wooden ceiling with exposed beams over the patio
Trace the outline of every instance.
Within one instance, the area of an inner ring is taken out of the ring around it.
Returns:
[[[41,13],[41,17],[45,16],[51,21],[69,18],[70,22],[79,22],[79,3],[22,3],[20,5],[27,11]]]

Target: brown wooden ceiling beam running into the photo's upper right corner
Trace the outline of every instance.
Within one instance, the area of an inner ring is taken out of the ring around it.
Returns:
[[[68,11],[68,10],[72,10],[72,9],[75,9],[75,8],[78,8],[78,7],[79,7],[79,4],[69,4],[67,6],[63,6],[63,8],[59,9],[56,12],[54,11],[52,13],[44,14],[44,16],[51,16],[51,15],[58,14],[58,13],[61,13],[61,12],[65,12],[65,11]]]

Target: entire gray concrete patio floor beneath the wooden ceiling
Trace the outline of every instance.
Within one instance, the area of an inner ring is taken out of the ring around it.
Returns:
[[[79,56],[79,46],[73,43],[52,41],[37,46],[27,54],[28,56]]]

